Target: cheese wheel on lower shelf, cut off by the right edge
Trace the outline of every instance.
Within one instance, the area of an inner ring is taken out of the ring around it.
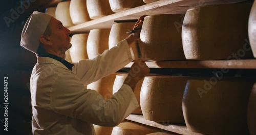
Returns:
[[[250,134],[256,134],[256,83],[254,83],[247,108],[247,122]]]

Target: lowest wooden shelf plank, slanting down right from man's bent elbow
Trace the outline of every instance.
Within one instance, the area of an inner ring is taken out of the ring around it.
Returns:
[[[142,115],[130,115],[126,118],[126,120],[135,121],[141,124],[145,124],[148,126],[157,127],[160,129],[164,129],[171,132],[176,132],[179,134],[190,134],[190,135],[199,135],[201,133],[188,131],[185,125],[174,125],[168,123],[159,123],[154,121],[145,120]]]

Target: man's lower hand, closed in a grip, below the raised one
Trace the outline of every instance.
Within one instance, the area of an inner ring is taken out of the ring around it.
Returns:
[[[144,78],[148,73],[150,73],[150,69],[146,63],[140,58],[136,59],[123,83],[129,85],[134,91],[137,82]]]

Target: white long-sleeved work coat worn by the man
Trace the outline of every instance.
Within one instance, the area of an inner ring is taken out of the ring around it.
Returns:
[[[95,134],[93,124],[116,126],[138,107],[129,85],[110,100],[84,85],[120,70],[133,53],[126,40],[93,60],[73,63],[73,69],[49,57],[37,57],[30,79],[33,134]]]

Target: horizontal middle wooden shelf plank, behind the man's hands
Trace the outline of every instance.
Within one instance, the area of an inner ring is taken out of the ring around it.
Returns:
[[[133,62],[124,66],[131,68]],[[146,61],[149,68],[180,69],[256,69],[256,59],[246,60],[186,60],[186,61]]]

